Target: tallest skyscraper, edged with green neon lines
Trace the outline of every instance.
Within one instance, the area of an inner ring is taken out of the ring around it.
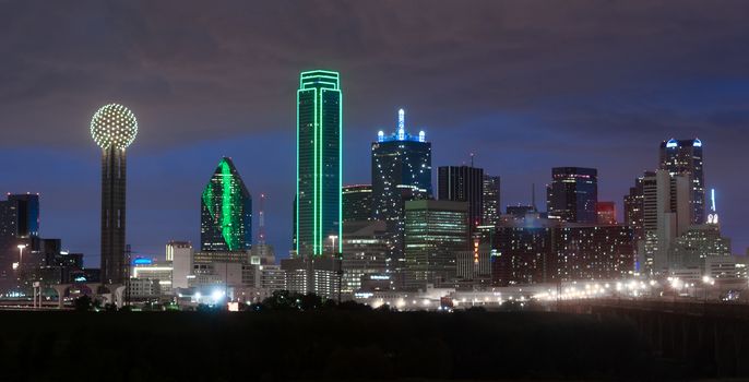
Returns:
[[[302,72],[297,91],[296,253],[341,252],[342,99],[338,73]]]

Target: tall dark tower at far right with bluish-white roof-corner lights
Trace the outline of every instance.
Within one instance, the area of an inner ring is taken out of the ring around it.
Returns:
[[[705,223],[705,189],[702,141],[670,139],[661,143],[661,169],[689,177],[692,224]]]

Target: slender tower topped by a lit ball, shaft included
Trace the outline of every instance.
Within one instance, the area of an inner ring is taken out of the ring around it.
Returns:
[[[135,140],[135,115],[118,104],[103,106],[91,120],[91,136],[102,147],[102,283],[124,284],[126,150]]]

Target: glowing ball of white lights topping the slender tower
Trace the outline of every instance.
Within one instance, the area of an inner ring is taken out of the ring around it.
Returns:
[[[91,136],[99,147],[127,148],[138,135],[135,115],[119,104],[103,106],[91,119]]]

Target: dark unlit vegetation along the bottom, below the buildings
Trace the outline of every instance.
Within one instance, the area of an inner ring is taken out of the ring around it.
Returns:
[[[625,321],[534,312],[0,312],[8,381],[659,379]]]

